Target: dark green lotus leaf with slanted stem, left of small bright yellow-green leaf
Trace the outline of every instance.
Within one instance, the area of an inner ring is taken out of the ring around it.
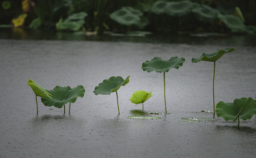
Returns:
[[[123,79],[121,76],[112,76],[109,79],[104,79],[102,83],[99,83],[99,86],[95,86],[95,90],[93,93],[95,95],[98,94],[105,94],[105,95],[110,95],[112,92],[116,92],[119,90],[121,86],[125,86],[127,83],[129,83],[129,77],[128,76],[126,79]],[[118,108],[118,115],[120,115],[119,111],[119,104],[118,104],[118,95],[117,95],[117,108]]]

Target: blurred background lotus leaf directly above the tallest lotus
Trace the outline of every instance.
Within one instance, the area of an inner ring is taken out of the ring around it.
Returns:
[[[195,17],[202,22],[213,22],[217,18],[218,10],[201,5],[201,7],[196,7],[192,10]]]

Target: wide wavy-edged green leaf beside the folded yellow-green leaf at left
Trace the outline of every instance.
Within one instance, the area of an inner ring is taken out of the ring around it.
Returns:
[[[74,103],[77,97],[84,97],[85,90],[83,86],[77,86],[73,89],[70,86],[56,86],[53,90],[48,90],[48,92],[52,94],[52,99],[41,97],[42,103],[48,107],[62,108],[67,103]]]

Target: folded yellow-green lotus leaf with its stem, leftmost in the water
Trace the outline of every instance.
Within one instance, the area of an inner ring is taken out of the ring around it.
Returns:
[[[36,102],[37,102],[37,96],[51,99],[51,94],[48,93],[48,91],[44,90],[44,88],[39,86],[37,83],[35,83],[32,79],[29,79],[28,85],[32,88],[32,90],[36,94]],[[37,114],[38,114],[38,104],[37,104]]]

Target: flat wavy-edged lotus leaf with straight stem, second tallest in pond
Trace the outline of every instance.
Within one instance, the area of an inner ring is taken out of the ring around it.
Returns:
[[[151,61],[143,62],[142,69],[147,72],[164,72],[164,93],[165,93],[165,72],[168,72],[171,68],[178,69],[183,65],[185,59],[183,57],[171,57],[169,60],[162,60],[161,57],[154,57]],[[165,99],[165,112],[166,109],[166,99]]]

